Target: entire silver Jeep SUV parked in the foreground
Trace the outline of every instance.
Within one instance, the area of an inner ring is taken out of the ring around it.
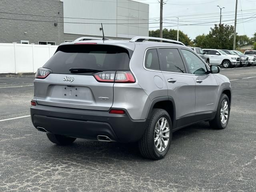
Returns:
[[[161,159],[180,128],[226,128],[232,95],[219,72],[174,40],[63,43],[36,73],[32,123],[55,144],[138,142],[142,156]]]

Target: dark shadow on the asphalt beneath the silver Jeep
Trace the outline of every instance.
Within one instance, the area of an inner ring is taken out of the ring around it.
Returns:
[[[201,122],[180,129],[173,133],[171,147],[178,147],[177,144],[181,138],[195,137],[198,132],[208,132],[212,128],[207,122]],[[183,139],[182,139],[183,140]],[[183,142],[186,142],[186,140]],[[92,160],[104,162],[108,160],[125,160],[125,161],[145,161],[138,149],[138,143],[117,143],[117,142],[98,142],[92,140],[77,139],[73,144],[68,146],[58,146],[52,144],[46,147],[43,152],[54,154],[58,158],[68,158],[70,160]],[[170,152],[169,152],[170,153]],[[152,160],[146,160],[152,161]]]

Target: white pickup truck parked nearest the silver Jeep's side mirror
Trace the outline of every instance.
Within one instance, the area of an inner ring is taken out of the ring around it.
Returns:
[[[226,54],[219,49],[203,49],[206,54],[210,55],[212,65],[222,65],[224,68],[240,65],[240,57]]]

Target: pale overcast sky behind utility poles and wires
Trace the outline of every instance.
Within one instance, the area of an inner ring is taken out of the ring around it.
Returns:
[[[160,15],[160,3],[158,0],[137,0],[138,2],[148,3],[149,6],[149,18],[156,18],[159,22]],[[160,1],[160,0],[159,0]],[[172,26],[166,27],[168,29],[177,29],[177,18],[175,16],[180,16],[180,24],[201,24],[201,26],[179,26],[179,29],[182,30],[185,34],[191,39],[194,39],[197,35],[208,33],[210,27],[214,26],[214,23],[206,22],[215,22],[219,23],[220,20],[220,8],[222,9],[222,21],[224,24],[232,24],[234,26],[235,18],[235,7],[236,0],[164,0],[166,4],[164,5],[163,11],[163,22],[168,22],[171,24],[164,23],[163,26]],[[252,37],[256,32],[256,0],[238,0],[238,24],[237,32],[239,35],[246,34],[249,37]],[[242,12],[241,12],[242,10]],[[204,14],[204,15],[195,15],[195,14]],[[193,15],[193,16],[184,16],[184,15]],[[165,20],[168,19],[168,20]],[[226,21],[229,20],[229,21]],[[154,20],[150,19],[150,22]],[[150,24],[150,30],[156,30],[158,28],[151,28],[159,26],[159,24]]]

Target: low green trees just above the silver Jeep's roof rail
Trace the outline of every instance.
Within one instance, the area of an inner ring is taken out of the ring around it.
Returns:
[[[151,30],[149,31],[150,37],[160,37],[160,30]],[[174,29],[163,29],[163,38],[177,40],[177,30]],[[184,34],[182,31],[179,31],[179,41],[184,43],[185,45],[192,45],[191,39],[187,34]]]

